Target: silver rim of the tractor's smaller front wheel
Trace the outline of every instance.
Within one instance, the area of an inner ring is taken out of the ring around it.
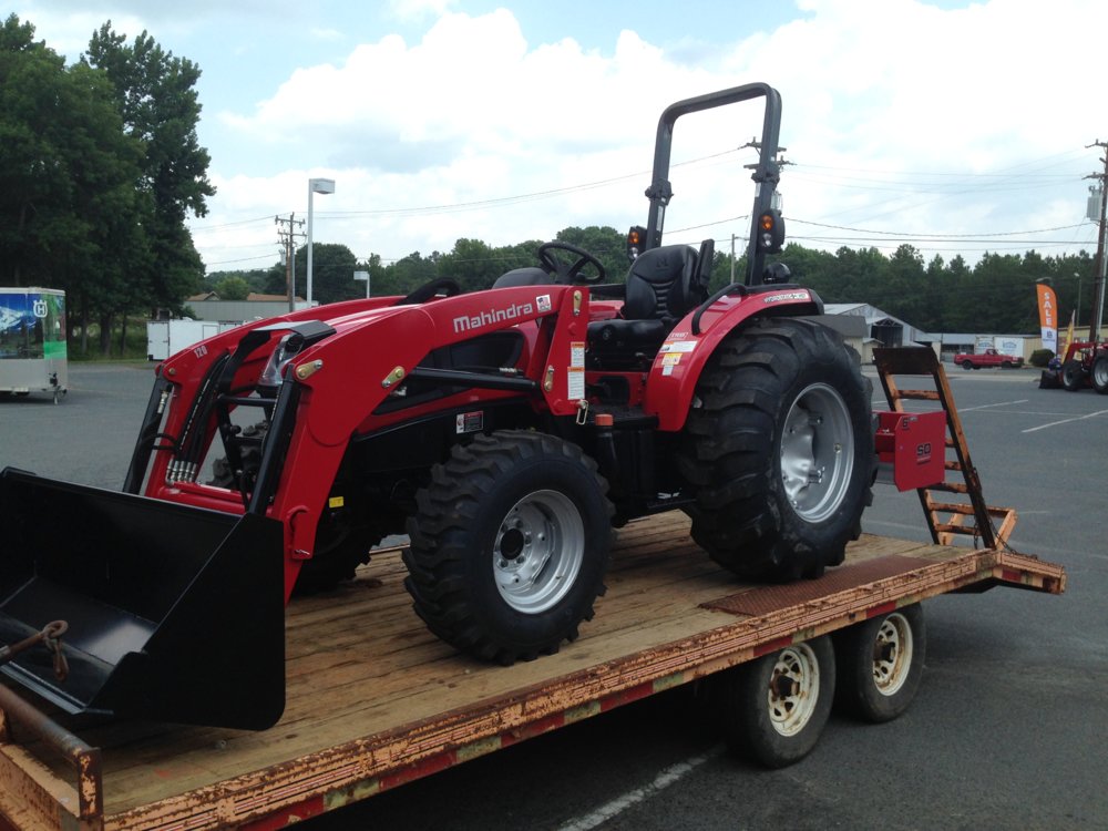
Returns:
[[[573,587],[585,558],[585,523],[557,491],[535,491],[515,503],[496,531],[493,576],[513,609],[535,615]]]

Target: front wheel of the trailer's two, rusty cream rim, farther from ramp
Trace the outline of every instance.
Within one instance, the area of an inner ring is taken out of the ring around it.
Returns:
[[[720,673],[710,700],[728,748],[768,768],[800,761],[827,725],[834,678],[825,635]]]

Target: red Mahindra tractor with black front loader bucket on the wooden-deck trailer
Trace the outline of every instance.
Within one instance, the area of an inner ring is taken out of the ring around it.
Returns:
[[[711,240],[661,244],[674,125],[755,99],[748,271],[709,294]],[[780,113],[765,84],[663,113],[625,278],[548,243],[489,290],[438,280],[248,324],[161,365],[122,493],[4,471],[0,642],[63,618],[70,671],[31,653],[3,671],[71,711],[265,728],[284,604],[389,534],[410,537],[428,627],[503,664],[577,637],[613,527],[647,514],[688,513],[742,576],[840,563],[871,500],[870,387],[811,320],[820,298],[766,263]]]

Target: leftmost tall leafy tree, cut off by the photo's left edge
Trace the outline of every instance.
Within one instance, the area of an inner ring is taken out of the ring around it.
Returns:
[[[66,69],[33,32],[16,16],[0,29],[0,281],[65,289],[86,336],[146,258],[141,146],[124,134],[104,74]]]

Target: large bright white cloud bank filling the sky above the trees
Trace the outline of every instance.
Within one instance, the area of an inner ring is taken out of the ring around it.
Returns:
[[[447,250],[462,236],[494,245],[547,238],[572,224],[625,227],[645,219],[661,109],[755,80],[784,100],[782,144],[797,163],[782,181],[788,215],[827,225],[983,235],[1078,224],[1080,175],[1096,165],[1083,148],[1105,132],[1080,83],[1099,71],[1096,32],[1108,23],[1108,6],[1096,1],[1056,0],[1046,13],[1022,0],[954,10],[916,0],[802,0],[796,20],[772,31],[737,29],[731,44],[700,61],[681,38],[676,50],[632,30],[613,32],[602,50],[572,38],[529,42],[504,9],[470,16],[449,3],[418,6],[438,14],[418,42],[365,42],[291,72],[253,112],[220,114],[236,141],[259,153],[279,148],[289,164],[267,186],[220,171],[213,217],[198,232],[219,217],[302,212],[315,175],[338,182],[335,195],[316,202],[316,239],[343,242],[359,256]],[[741,223],[718,223],[749,211],[741,164],[751,154],[715,154],[748,141],[760,117],[757,105],[740,106],[678,124],[675,162],[712,156],[674,172],[667,228],[704,226],[681,239],[745,235]],[[635,173],[555,197],[403,213]],[[830,247],[850,236],[799,222],[790,232],[828,237],[806,244]],[[1092,238],[1090,229],[1066,233],[1073,247]],[[197,233],[209,260],[227,258],[206,240]],[[956,245],[917,247],[950,257]]]

